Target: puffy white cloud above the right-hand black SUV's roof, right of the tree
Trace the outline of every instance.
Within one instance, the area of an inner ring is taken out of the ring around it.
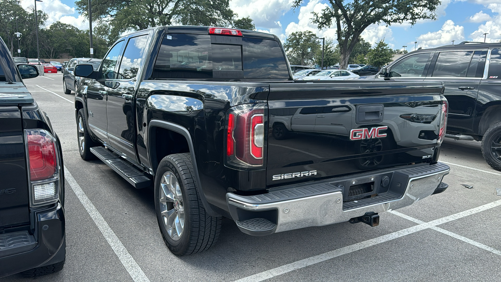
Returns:
[[[419,47],[433,48],[451,44],[452,40],[456,43],[464,40],[464,27],[454,26],[454,22],[447,20],[439,31],[422,34],[416,41]]]

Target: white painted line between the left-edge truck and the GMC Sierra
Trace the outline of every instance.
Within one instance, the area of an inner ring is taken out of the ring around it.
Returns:
[[[137,264],[132,255],[130,255],[120,239],[118,239],[117,235],[115,234],[115,232],[113,232],[106,220],[104,220],[101,213],[99,213],[94,204],[92,204],[87,195],[85,195],[84,190],[82,190],[80,185],[78,185],[77,181],[75,180],[75,178],[73,178],[66,166],[64,166],[64,174],[66,181],[68,181],[68,184],[70,184],[71,189],[73,190],[73,192],[75,192],[78,199],[87,210],[94,223],[96,223],[99,231],[101,231],[106,241],[108,241],[108,244],[110,244],[111,248],[118,256],[118,259],[120,259],[120,262],[125,267],[127,272],[129,272],[132,279],[135,282],[150,282],[141,267]]]

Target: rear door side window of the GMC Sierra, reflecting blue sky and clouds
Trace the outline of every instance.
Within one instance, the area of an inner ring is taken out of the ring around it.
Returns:
[[[129,39],[125,47],[120,69],[118,70],[118,79],[132,79],[136,77],[141,59],[146,50],[148,35],[137,36]]]

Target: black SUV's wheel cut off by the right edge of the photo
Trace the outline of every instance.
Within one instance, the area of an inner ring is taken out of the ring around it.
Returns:
[[[489,166],[501,171],[501,121],[490,126],[483,134],[482,155]]]

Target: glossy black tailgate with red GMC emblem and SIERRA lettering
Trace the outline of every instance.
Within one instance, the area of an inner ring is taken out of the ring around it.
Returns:
[[[267,186],[430,163],[441,83],[271,84]]]

